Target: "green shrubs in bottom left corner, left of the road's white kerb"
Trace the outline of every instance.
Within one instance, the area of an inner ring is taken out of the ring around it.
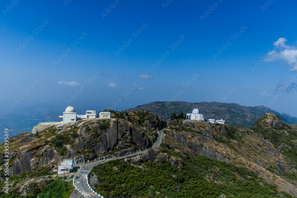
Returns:
[[[74,187],[72,182],[64,181],[61,179],[48,179],[42,182],[30,182],[28,184],[29,190],[27,194],[22,196],[18,189],[12,188],[9,194],[2,193],[2,198],[68,198],[73,192]]]

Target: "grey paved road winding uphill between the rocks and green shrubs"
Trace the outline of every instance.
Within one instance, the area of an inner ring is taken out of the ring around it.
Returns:
[[[162,142],[162,138],[163,138],[163,134],[164,134],[164,129],[161,129],[160,131],[158,131],[158,138],[156,140],[156,142],[154,143],[154,145],[152,146],[152,148],[158,147],[160,146],[161,142]],[[91,162],[89,164],[84,164],[80,166],[79,172],[77,174],[77,178],[75,180],[76,186],[78,187],[78,189],[88,198],[98,198],[97,195],[95,195],[92,191],[90,191],[90,189],[88,188],[87,184],[86,184],[86,174],[89,174],[89,172],[91,172],[91,170],[93,169],[94,166],[97,166],[98,164],[104,164],[110,160],[115,160],[115,159],[124,159],[127,157],[132,157],[132,156],[137,156],[137,155],[141,155],[143,153],[147,153],[148,150],[145,151],[140,151],[137,153],[133,153],[131,155],[128,156],[122,156],[122,157],[115,157],[115,158],[111,158],[111,159],[106,159],[106,160],[101,160],[101,161],[95,161],[95,162]],[[100,194],[100,192],[97,192]]]

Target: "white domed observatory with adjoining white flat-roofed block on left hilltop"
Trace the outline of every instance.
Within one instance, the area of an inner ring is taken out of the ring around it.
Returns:
[[[93,119],[96,118],[96,111],[87,110],[85,115],[77,115],[74,107],[68,106],[63,112],[63,115],[59,116],[59,118],[63,118],[63,124],[69,122],[76,122],[77,120],[82,119]]]

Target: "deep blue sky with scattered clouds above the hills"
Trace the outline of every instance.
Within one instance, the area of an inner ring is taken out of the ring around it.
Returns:
[[[0,3],[2,115],[15,101],[119,111],[173,98],[297,117],[295,81],[284,89],[297,75],[296,1],[13,2]]]

